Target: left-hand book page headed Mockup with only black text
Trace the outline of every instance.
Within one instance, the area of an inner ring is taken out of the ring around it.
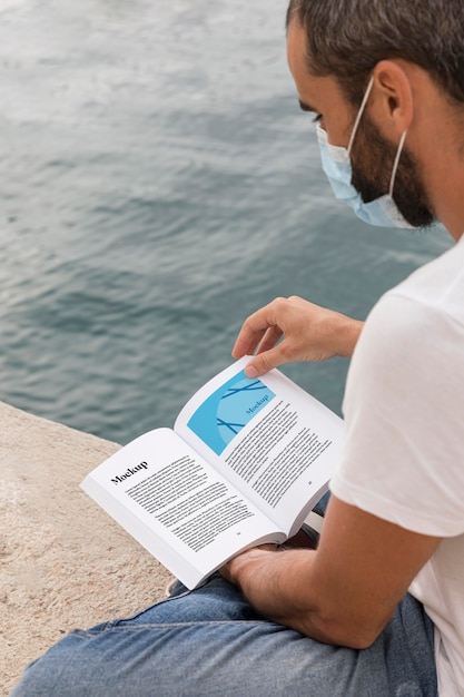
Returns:
[[[256,540],[285,539],[170,429],[136,439],[81,487],[190,588]]]

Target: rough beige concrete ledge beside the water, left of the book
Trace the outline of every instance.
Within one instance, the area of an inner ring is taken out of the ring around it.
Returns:
[[[0,402],[0,695],[76,627],[161,599],[169,573],[83,491],[119,445]]]

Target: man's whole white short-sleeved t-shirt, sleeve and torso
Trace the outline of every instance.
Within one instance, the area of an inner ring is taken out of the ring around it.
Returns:
[[[441,697],[464,695],[464,236],[374,307],[344,413],[335,495],[444,538],[411,592],[435,624]]]

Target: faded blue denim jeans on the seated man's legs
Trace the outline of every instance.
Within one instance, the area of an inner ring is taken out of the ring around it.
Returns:
[[[130,619],[77,630],[11,697],[436,696],[433,625],[406,596],[368,649],[333,647],[257,615],[215,575]]]

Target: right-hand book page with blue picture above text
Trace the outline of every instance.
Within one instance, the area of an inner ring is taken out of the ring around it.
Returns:
[[[294,534],[327,490],[343,421],[279,371],[250,380],[241,359],[197,392],[175,429]]]

